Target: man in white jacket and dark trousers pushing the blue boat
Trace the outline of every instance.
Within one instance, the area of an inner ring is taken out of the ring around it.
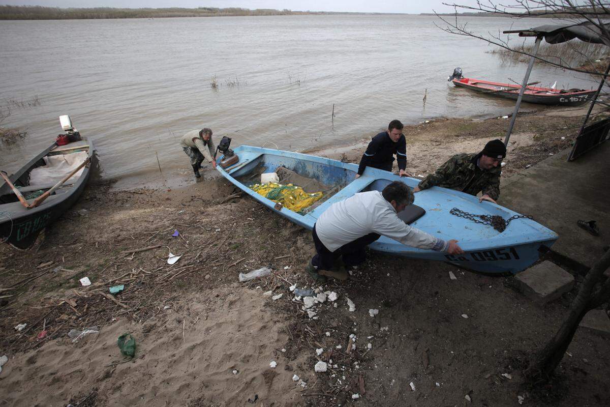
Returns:
[[[356,193],[344,201],[332,204],[324,211],[312,230],[315,256],[307,272],[320,283],[326,276],[346,279],[347,271],[366,259],[365,247],[381,235],[403,245],[449,254],[464,253],[458,240],[442,240],[412,228],[397,213],[413,203],[411,189],[400,181],[387,185],[381,192]],[[342,256],[345,267],[334,267]]]

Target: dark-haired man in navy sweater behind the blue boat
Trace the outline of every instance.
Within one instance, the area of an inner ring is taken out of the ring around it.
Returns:
[[[382,131],[373,137],[368,143],[367,151],[362,155],[356,178],[361,176],[367,167],[392,171],[394,154],[398,161],[398,175],[410,176],[404,171],[407,166],[407,143],[404,139],[403,127],[400,120],[392,120],[387,126],[387,131]]]

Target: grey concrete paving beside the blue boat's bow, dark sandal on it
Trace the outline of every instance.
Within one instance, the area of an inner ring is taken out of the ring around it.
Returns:
[[[610,242],[610,142],[573,162],[566,161],[568,153],[564,150],[519,175],[503,179],[498,203],[532,215],[536,222],[559,234],[551,250],[591,267]],[[579,219],[597,221],[600,236],[579,228]]]

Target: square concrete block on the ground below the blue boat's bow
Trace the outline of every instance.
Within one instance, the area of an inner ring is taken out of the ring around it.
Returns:
[[[574,286],[574,276],[550,261],[544,261],[515,276],[521,292],[538,304],[556,300]]]

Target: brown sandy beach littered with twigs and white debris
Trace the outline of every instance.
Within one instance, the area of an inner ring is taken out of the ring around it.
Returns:
[[[503,182],[569,148],[581,114],[520,114]],[[407,171],[421,178],[503,139],[506,126],[496,117],[406,126]],[[367,143],[312,154],[358,162]],[[304,271],[309,231],[235,194],[215,171],[203,175],[185,175],[178,189],[93,181],[33,248],[0,248],[0,405],[610,403],[608,339],[587,330],[576,333],[561,380],[542,391],[523,385],[528,358],[553,336],[578,284],[540,307],[512,277],[371,252],[349,281],[319,286]],[[169,253],[182,257],[169,265]],[[260,267],[273,272],[239,283]],[[85,276],[90,286],[79,283]],[[314,315],[293,286],[320,294]],[[85,328],[96,332],[68,336]],[[134,358],[120,353],[123,333],[135,339]],[[315,372],[320,361],[325,372]]]

